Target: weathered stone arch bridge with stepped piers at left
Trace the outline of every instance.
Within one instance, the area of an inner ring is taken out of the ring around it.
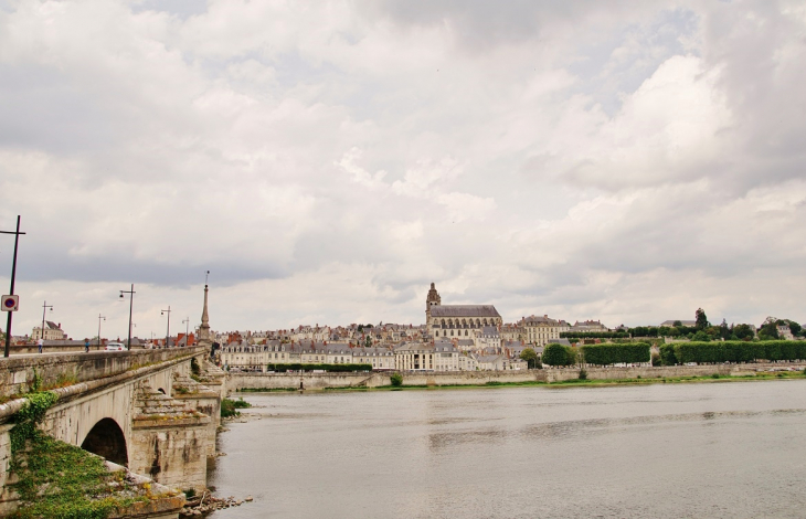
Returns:
[[[201,490],[225,374],[203,347],[15,356],[0,360],[0,487],[12,415],[31,390],[59,395],[41,428],[51,436],[181,490]]]

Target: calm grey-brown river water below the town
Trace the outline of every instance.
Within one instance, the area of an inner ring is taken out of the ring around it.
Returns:
[[[806,517],[806,380],[244,400],[213,519]]]

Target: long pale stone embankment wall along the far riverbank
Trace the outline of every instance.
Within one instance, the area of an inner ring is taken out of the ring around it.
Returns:
[[[740,377],[771,368],[802,370],[804,362],[668,366],[641,368],[586,368],[590,380],[664,379],[679,377]],[[543,369],[528,371],[450,371],[403,372],[405,385],[485,385],[488,382],[561,382],[580,377],[577,368]],[[227,377],[230,392],[241,390],[322,390],[337,388],[380,388],[391,385],[391,373],[231,373]]]

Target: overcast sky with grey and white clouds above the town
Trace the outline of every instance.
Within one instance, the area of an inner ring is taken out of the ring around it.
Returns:
[[[806,320],[804,64],[802,0],[0,0],[14,335]]]

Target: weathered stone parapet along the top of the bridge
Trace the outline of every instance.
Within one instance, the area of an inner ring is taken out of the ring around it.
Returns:
[[[201,356],[204,347],[159,350],[91,351],[17,356],[0,359],[0,400],[24,394],[41,377],[41,388],[57,388],[114,377],[181,357]]]

